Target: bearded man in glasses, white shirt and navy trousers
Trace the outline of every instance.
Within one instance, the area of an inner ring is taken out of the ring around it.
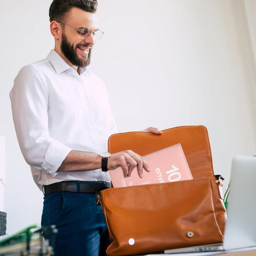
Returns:
[[[21,68],[10,92],[22,154],[44,193],[42,226],[58,229],[57,256],[106,255],[106,220],[95,193],[110,187],[108,170],[122,166],[124,177],[136,166],[140,177],[149,171],[133,151],[107,153],[116,124],[105,84],[88,68],[103,35],[96,9],[97,0],[54,0],[54,50]],[[161,134],[153,127],[145,131]]]

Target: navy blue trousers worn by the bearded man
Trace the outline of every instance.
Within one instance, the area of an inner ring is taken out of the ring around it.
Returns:
[[[109,245],[106,219],[94,193],[60,192],[44,197],[41,226],[55,225],[55,256],[103,256]]]

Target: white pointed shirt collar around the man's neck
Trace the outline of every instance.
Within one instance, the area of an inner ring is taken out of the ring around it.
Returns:
[[[51,62],[51,65],[53,66],[53,68],[55,69],[55,71],[60,74],[66,70],[74,70],[73,68],[71,68],[68,63],[63,60],[60,55],[55,52],[54,50],[51,50],[50,53],[47,55],[47,59]],[[75,71],[75,70],[74,70]],[[76,72],[77,73],[77,72]],[[90,75],[90,71],[89,68],[85,67],[85,68],[81,68],[80,69],[80,75],[85,74],[86,76]]]

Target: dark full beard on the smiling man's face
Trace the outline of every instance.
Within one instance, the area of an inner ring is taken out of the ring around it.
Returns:
[[[64,54],[64,56],[76,67],[78,68],[84,68],[89,66],[91,61],[91,50],[89,50],[89,54],[87,58],[81,59],[76,54],[76,48],[74,49],[73,45],[70,45],[67,37],[62,34],[61,39],[61,45],[60,45],[61,51]]]

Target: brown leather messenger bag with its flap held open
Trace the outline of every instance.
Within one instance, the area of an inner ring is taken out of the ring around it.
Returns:
[[[108,149],[111,154],[131,149],[143,156],[177,143],[181,143],[193,180],[101,191],[111,241],[109,256],[223,241],[226,211],[222,179],[214,176],[204,126],[175,127],[161,135],[118,133],[109,138]]]

